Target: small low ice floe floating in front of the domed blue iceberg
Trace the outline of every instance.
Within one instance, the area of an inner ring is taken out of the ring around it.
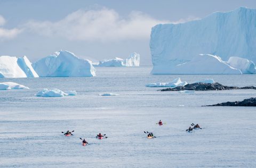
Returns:
[[[42,91],[39,91],[36,96],[41,96],[41,97],[63,97],[63,96],[75,96],[76,91],[62,91],[59,89],[43,89]]]

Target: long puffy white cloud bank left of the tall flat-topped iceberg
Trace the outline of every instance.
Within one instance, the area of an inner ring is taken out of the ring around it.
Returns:
[[[151,27],[169,21],[157,20],[151,16],[132,11],[122,18],[116,11],[78,10],[57,22],[29,21],[25,28],[43,36],[58,36],[70,40],[113,41],[129,39],[149,39]]]

